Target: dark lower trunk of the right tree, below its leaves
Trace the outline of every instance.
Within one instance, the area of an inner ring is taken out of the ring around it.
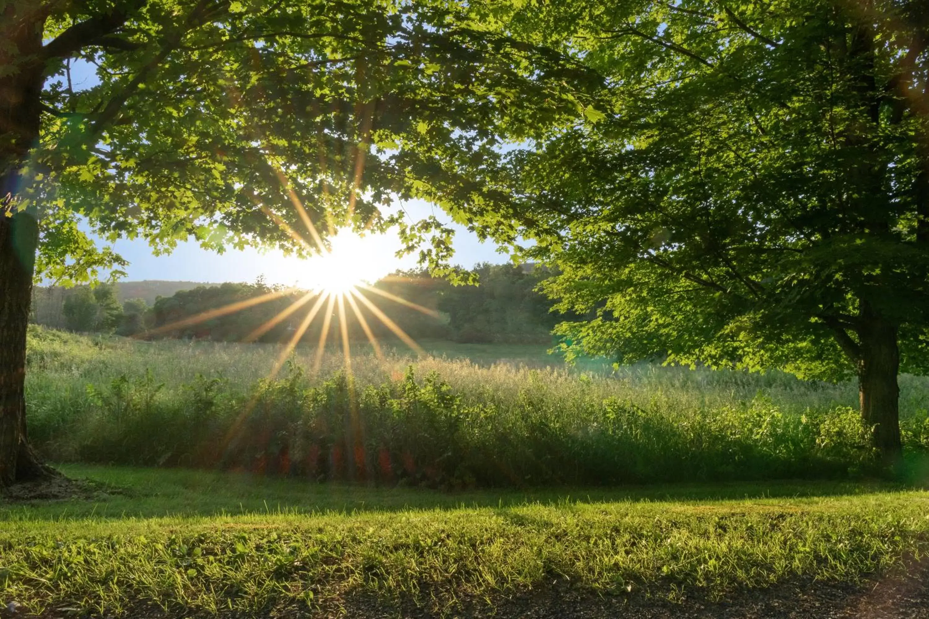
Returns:
[[[872,445],[878,449],[884,463],[890,465],[896,463],[903,449],[900,442],[900,389],[896,384],[900,351],[896,335],[896,325],[876,316],[858,332],[861,417],[873,426]]]

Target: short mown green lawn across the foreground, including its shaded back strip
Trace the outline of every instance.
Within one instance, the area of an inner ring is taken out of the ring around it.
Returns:
[[[887,484],[439,493],[62,467],[86,499],[0,504],[0,601],[33,613],[271,613],[352,596],[454,608],[568,583],[726,598],[929,553],[929,492]]]

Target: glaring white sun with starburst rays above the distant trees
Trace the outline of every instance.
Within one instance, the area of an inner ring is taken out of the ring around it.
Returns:
[[[344,295],[364,284],[373,284],[397,268],[394,251],[375,236],[360,237],[341,230],[330,239],[329,249],[301,265],[300,283],[309,290]]]

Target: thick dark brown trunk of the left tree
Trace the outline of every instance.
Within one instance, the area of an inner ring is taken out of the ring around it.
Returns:
[[[45,5],[0,16],[0,487],[51,474],[26,440],[26,329],[38,224],[21,209],[24,165],[41,128]]]

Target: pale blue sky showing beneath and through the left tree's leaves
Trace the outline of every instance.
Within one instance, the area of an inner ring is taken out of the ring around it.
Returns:
[[[73,62],[74,89],[82,90],[98,84],[95,71],[96,67],[85,61]],[[405,202],[403,208],[412,220],[436,214],[440,221],[449,221],[441,209],[422,200]],[[452,224],[451,227],[456,232],[453,263],[470,268],[481,262],[506,262],[507,256],[497,252],[493,243],[481,243],[478,236],[464,226]],[[399,249],[396,230],[391,230],[383,238],[364,239],[363,247],[366,253],[370,253],[366,259],[378,264],[384,275],[398,268],[416,266],[415,255],[406,256],[402,260],[394,258],[394,251]],[[175,251],[161,256],[153,255],[144,239],[122,239],[116,242],[114,249],[129,261],[129,265],[123,269],[126,280],[168,279],[218,283],[254,281],[257,277],[265,277],[268,283],[292,285],[301,280],[306,284],[306,277],[302,276],[307,269],[312,268],[306,261],[287,258],[280,251],[260,251],[255,248],[217,254],[203,250],[195,242],[180,243]]]

